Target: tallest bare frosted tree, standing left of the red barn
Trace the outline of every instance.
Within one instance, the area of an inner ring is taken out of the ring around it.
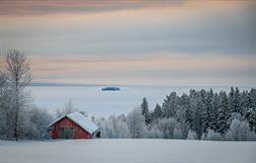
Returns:
[[[20,50],[9,50],[6,54],[7,75],[12,88],[12,119],[14,122],[14,137],[19,138],[19,125],[23,126],[20,119],[20,111],[28,107],[31,102],[31,96],[25,88],[31,83],[31,66],[26,55]],[[22,128],[22,127],[20,127]]]

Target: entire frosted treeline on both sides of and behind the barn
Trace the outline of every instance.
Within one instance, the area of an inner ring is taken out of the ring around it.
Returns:
[[[5,55],[0,71],[0,139],[45,139],[45,127],[54,118],[78,111],[72,101],[55,116],[33,103],[26,89],[32,81],[27,56],[19,50]],[[146,95],[145,95],[146,97]],[[102,138],[169,138],[202,140],[256,140],[256,89],[229,92],[190,90],[171,92],[149,110],[146,98],[128,114],[95,118]],[[82,113],[86,116],[86,113]]]

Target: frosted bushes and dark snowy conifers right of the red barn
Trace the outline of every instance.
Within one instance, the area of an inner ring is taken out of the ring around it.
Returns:
[[[256,140],[256,90],[172,92],[153,111],[143,98],[127,116],[95,122],[105,138]]]

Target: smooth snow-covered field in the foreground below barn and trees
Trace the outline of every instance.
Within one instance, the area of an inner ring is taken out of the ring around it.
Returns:
[[[0,163],[255,163],[256,142],[164,139],[0,141]]]

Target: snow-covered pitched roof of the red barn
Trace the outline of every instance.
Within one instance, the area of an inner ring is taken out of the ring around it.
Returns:
[[[94,122],[92,122],[89,118],[86,118],[79,112],[73,112],[69,115],[62,116],[62,117],[58,118],[57,120],[55,120],[54,122],[51,122],[48,125],[48,127],[51,126],[52,124],[54,124],[55,122],[60,121],[63,118],[68,118],[71,121],[77,123],[79,126],[81,126],[83,129],[88,131],[90,134],[92,134],[93,132],[95,132],[98,129],[98,126]]]

